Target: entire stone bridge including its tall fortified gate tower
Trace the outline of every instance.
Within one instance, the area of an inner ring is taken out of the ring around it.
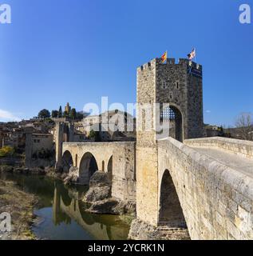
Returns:
[[[137,69],[136,143],[62,143],[57,126],[57,164],[84,184],[104,170],[114,197],[136,200],[129,238],[253,239],[253,142],[203,138],[202,75],[187,59]]]

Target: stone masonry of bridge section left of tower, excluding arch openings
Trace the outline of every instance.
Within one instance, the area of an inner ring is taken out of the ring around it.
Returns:
[[[96,159],[98,170],[109,172],[113,157],[112,196],[121,200],[136,201],[135,142],[64,142],[62,154],[69,151],[74,166],[80,168],[86,153]],[[76,164],[77,160],[77,164]]]

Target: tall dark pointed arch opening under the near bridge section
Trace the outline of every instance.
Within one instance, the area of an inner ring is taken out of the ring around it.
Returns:
[[[168,170],[164,171],[160,185],[159,223],[171,227],[187,227],[180,200]]]

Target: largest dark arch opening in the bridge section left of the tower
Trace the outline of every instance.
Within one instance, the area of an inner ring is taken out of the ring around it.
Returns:
[[[93,154],[85,153],[81,158],[79,168],[79,182],[84,185],[89,185],[90,177],[98,170],[97,161]]]

